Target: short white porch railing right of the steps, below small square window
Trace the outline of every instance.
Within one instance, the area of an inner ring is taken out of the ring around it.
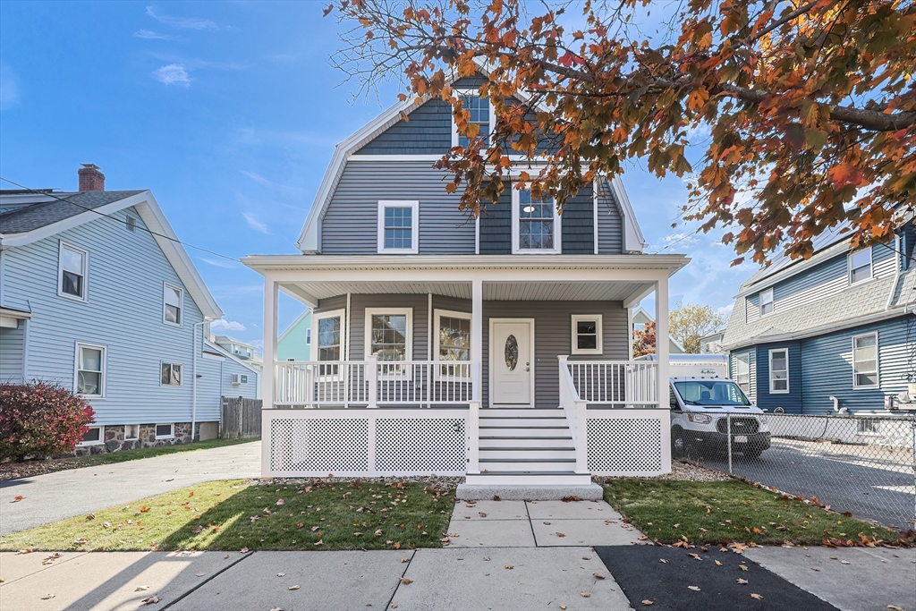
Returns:
[[[567,361],[576,392],[587,403],[657,408],[659,365],[650,361]]]

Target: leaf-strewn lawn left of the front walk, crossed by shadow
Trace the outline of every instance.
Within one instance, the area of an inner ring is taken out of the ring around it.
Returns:
[[[451,490],[417,483],[218,481],[8,535],[0,551],[438,548],[452,509]]]

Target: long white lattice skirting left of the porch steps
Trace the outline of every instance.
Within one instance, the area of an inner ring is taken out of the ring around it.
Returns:
[[[467,409],[265,409],[269,477],[464,475]]]

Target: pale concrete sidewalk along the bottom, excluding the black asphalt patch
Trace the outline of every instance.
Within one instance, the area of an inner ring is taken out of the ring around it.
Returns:
[[[628,550],[630,546],[618,549]],[[669,555],[686,553],[675,548],[658,549]],[[588,547],[245,554],[64,552],[44,564],[48,555],[0,554],[0,608],[631,608],[614,575]],[[888,605],[916,608],[912,587],[916,550],[758,548],[747,559],[761,562],[764,568],[839,609],[886,611]],[[814,572],[812,567],[821,570]],[[158,602],[141,605],[149,596],[156,596]],[[778,606],[778,599],[768,597],[760,608]]]

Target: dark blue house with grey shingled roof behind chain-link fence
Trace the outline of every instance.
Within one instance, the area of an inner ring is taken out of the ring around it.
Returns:
[[[725,330],[731,375],[764,409],[878,411],[916,396],[913,219],[886,245],[851,250],[844,226],[807,261],[745,282]]]

